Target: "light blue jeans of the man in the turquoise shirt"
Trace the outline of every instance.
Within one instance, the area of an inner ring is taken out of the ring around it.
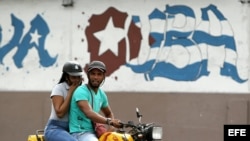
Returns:
[[[72,133],[72,136],[78,141],[98,141],[98,138],[92,132]]]

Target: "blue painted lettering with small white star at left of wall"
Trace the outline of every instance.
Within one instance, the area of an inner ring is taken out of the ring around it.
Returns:
[[[13,37],[9,42],[0,48],[0,62],[3,64],[3,58],[13,49],[17,48],[17,52],[13,56],[14,63],[17,68],[22,68],[22,61],[27,56],[30,48],[36,48],[41,66],[49,67],[56,62],[56,56],[52,57],[44,48],[44,42],[49,34],[49,27],[46,21],[37,15],[31,22],[30,30],[24,35],[24,24],[14,14],[11,14],[11,22],[14,28]],[[0,32],[1,37],[4,36]],[[23,36],[23,37],[22,37]],[[1,42],[1,39],[0,39]]]

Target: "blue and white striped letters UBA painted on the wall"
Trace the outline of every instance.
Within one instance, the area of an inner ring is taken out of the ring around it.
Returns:
[[[154,77],[158,76],[176,81],[195,81],[201,76],[209,75],[207,68],[208,48],[223,46],[224,62],[220,70],[221,75],[231,77],[239,83],[245,82],[246,79],[241,79],[237,72],[237,50],[230,23],[214,5],[202,8],[201,11],[202,21],[198,23],[198,27],[195,27],[195,14],[192,9],[187,6],[167,5],[165,10],[166,14],[157,9],[154,10],[152,14],[149,15],[149,20],[152,22],[150,36],[154,39],[151,44],[152,51],[150,53],[154,54],[154,58],[149,58],[150,60],[143,65],[128,64],[128,66],[137,73],[145,73],[146,80],[153,80]],[[220,23],[220,27],[218,27],[219,30],[221,30],[220,36],[210,34],[208,12],[212,12],[217,17]],[[186,25],[180,29],[173,27],[175,16],[178,14],[182,14],[186,18]],[[165,25],[167,25],[167,30],[165,30]],[[195,27],[195,29],[192,27]],[[205,47],[202,47],[202,44],[205,44]],[[185,66],[178,67],[178,64],[172,62],[170,57],[168,58],[168,56],[171,55],[172,48],[179,48],[178,52],[180,56],[173,57],[175,59],[180,58],[186,60]],[[202,52],[205,53],[202,54]],[[220,63],[217,62],[217,60],[213,61]]]

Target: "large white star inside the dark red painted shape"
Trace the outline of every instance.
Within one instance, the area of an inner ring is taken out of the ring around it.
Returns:
[[[101,41],[99,55],[111,50],[118,56],[118,42],[124,37],[124,31],[121,28],[114,27],[112,18],[109,19],[106,28],[94,33],[94,36]]]

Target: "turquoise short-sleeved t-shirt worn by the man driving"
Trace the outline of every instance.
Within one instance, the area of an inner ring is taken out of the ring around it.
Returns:
[[[90,90],[91,92],[86,85],[82,85],[79,86],[73,93],[69,112],[70,133],[94,131],[91,120],[87,118],[86,115],[79,109],[77,105],[78,101],[87,100],[89,102],[89,105],[92,107],[92,93],[94,98],[94,108],[92,108],[95,112],[99,113],[101,108],[108,106],[107,95],[103,90],[99,88],[96,94],[92,89]]]

